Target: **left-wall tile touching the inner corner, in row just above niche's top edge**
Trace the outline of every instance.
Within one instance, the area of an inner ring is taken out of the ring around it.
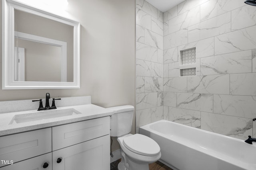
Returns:
[[[158,49],[163,49],[163,36],[146,29],[145,44],[156,47]]]

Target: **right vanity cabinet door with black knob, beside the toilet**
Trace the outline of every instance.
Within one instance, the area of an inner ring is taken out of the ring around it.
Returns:
[[[52,152],[52,169],[110,170],[109,154],[110,135],[106,135]]]

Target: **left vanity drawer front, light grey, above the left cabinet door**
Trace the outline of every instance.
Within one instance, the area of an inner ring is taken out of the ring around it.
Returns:
[[[52,151],[52,128],[0,137],[0,160],[14,163]],[[0,167],[6,164],[0,162]]]

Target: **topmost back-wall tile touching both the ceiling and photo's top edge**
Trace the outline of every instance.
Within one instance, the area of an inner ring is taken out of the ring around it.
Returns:
[[[178,15],[207,1],[208,0],[185,0],[184,2],[178,4]]]

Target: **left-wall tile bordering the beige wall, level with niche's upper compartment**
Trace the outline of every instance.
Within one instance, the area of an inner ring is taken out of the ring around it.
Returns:
[[[158,49],[150,45],[136,42],[136,59],[157,62]]]

